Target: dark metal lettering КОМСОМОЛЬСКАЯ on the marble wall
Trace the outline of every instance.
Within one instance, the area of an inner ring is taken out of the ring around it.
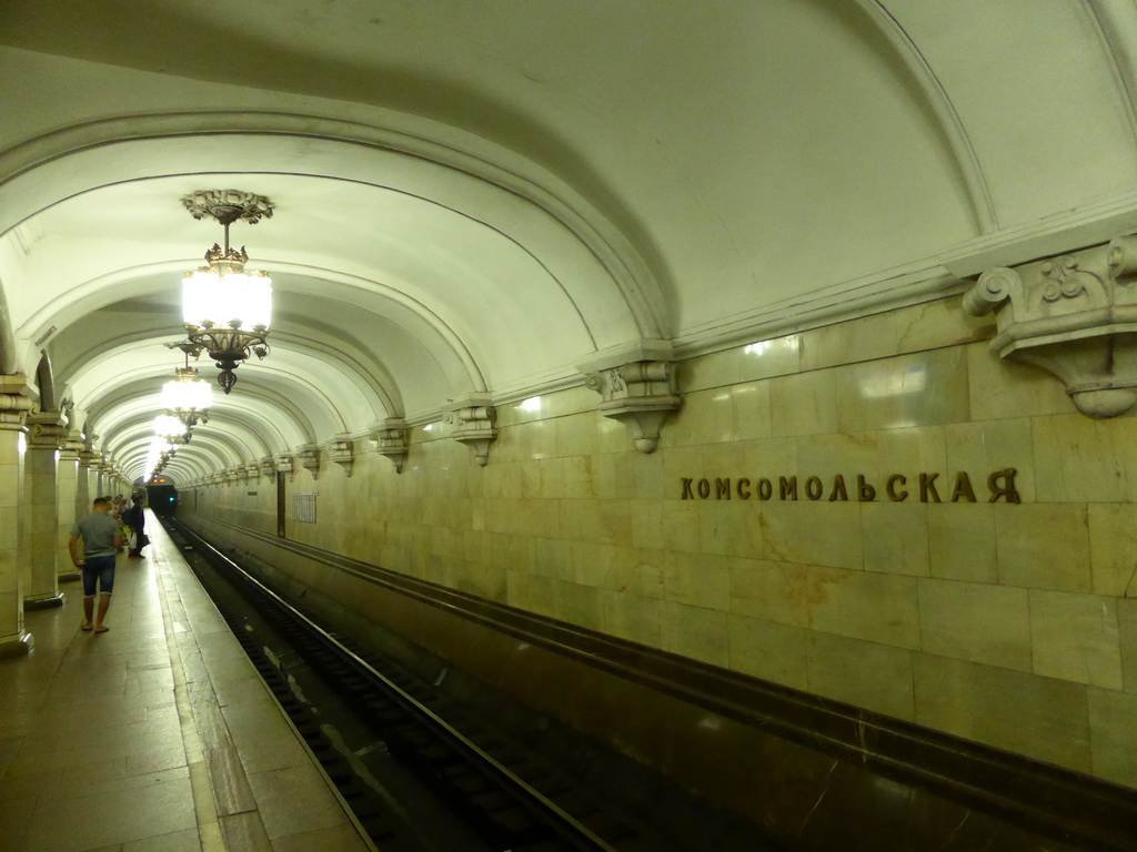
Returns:
[[[999,500],[1003,500],[1007,503],[1021,503],[1022,496],[1019,494],[1014,483],[1018,473],[1013,467],[991,473],[987,477],[987,502],[997,503]],[[799,499],[798,477],[779,476],[777,478],[778,500],[797,501]],[[971,484],[971,476],[965,470],[957,471],[954,477],[945,478],[954,483],[948,502],[979,502],[974,486]],[[939,473],[920,473],[916,475],[921,503],[944,502],[937,487],[938,479]],[[733,487],[731,486],[732,482]],[[894,503],[902,503],[908,499],[908,490],[905,487],[908,484],[908,476],[905,474],[890,474],[885,478],[883,483],[883,490],[878,491],[877,483],[872,482],[864,474],[858,474],[856,477],[856,500],[862,503],[872,503],[877,501],[878,493],[887,495]],[[679,477],[679,485],[680,500],[730,500],[732,494],[739,500],[750,500],[755,496],[758,500],[772,500],[774,496],[773,477],[765,476],[756,479],[750,479],[747,476],[716,476],[714,477],[713,487],[709,477],[696,479],[695,477],[681,476]],[[944,487],[946,488],[947,486],[945,485]],[[825,481],[820,476],[808,476],[805,479],[804,491],[807,500],[821,500],[827,491]],[[849,500],[848,486],[846,486],[845,477],[841,474],[837,474],[832,478],[832,484],[828,491],[828,501],[830,503],[848,502]]]

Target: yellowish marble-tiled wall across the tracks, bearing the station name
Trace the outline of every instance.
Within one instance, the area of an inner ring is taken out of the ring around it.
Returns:
[[[288,536],[1137,786],[1137,418],[1076,412],[991,333],[952,298],[683,361],[650,456],[583,387],[499,407],[484,468],[416,428],[401,475],[298,469],[317,517]],[[1021,502],[990,502],[1010,468]],[[268,533],[275,501],[194,498]]]

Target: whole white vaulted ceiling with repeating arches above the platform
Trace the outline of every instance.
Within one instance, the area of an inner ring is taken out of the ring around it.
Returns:
[[[0,45],[0,353],[131,476],[201,189],[276,206],[273,351],[184,476],[1137,226],[1120,0],[7,0]]]

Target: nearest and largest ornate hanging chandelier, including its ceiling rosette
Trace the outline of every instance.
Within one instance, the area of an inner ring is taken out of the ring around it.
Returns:
[[[221,369],[217,383],[229,393],[241,361],[268,354],[265,340],[272,323],[272,279],[247,272],[249,254],[229,244],[229,226],[238,219],[256,225],[271,218],[273,203],[264,195],[239,190],[200,190],[182,199],[194,219],[209,216],[225,229],[224,248],[214,243],[206,266],[186,273],[182,283],[182,320],[186,343],[199,346]]]

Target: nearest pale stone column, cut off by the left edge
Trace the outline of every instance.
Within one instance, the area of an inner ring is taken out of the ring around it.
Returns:
[[[19,535],[27,391],[24,376],[0,376],[0,657],[26,653],[32,644],[24,632]]]

